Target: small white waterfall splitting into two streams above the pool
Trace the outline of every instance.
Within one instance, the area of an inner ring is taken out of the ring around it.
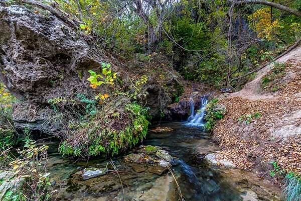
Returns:
[[[206,96],[202,97],[202,105],[198,112],[195,114],[194,111],[194,101],[193,98],[190,98],[190,116],[187,120],[187,124],[190,126],[203,126],[204,125],[204,117],[205,117],[205,109],[208,104],[208,98]]]

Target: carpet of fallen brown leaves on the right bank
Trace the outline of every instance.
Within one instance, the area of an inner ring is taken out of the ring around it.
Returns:
[[[272,98],[220,100],[227,113],[214,129],[214,140],[223,148],[224,157],[239,168],[256,169],[264,174],[268,172],[268,163],[277,161],[281,168],[301,173],[301,133],[291,135],[287,130],[287,136],[275,134],[287,126],[300,128],[301,99],[295,96],[301,91],[298,66],[299,63],[290,67],[294,77]],[[254,118],[254,114],[260,115]],[[250,118],[245,121],[242,117]]]

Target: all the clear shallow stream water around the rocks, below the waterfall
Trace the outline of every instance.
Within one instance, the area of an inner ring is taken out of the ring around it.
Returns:
[[[204,105],[206,103],[207,100],[204,100]],[[210,136],[202,127],[187,127],[182,122],[167,122],[161,126],[171,127],[174,130],[165,133],[149,132],[143,145],[160,146],[179,159],[178,165],[172,168],[185,200],[261,200],[258,198],[259,195],[249,188],[253,185],[246,179],[249,173],[240,170],[227,172],[204,163],[204,155],[216,152],[218,148],[210,141]],[[179,198],[175,181],[169,172],[160,175],[150,169],[146,170],[147,167],[141,169],[135,167],[135,164],[125,163],[122,156],[113,158],[123,183],[125,193],[123,195],[119,177],[114,173],[86,181],[80,180],[75,174],[85,167],[107,167],[108,160],[73,161],[62,158],[56,150],[57,144],[53,144],[49,153],[49,171],[55,184],[56,200],[176,201]],[[249,176],[253,177],[254,175]],[[261,186],[259,184],[261,181],[256,182],[258,182],[256,186]]]

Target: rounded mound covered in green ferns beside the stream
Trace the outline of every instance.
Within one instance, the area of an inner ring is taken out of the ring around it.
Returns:
[[[116,115],[116,114],[119,115]],[[117,155],[143,140],[147,134],[146,110],[129,99],[116,99],[70,130],[60,153],[76,157]]]

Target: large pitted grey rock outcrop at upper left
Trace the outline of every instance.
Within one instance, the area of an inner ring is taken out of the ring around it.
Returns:
[[[54,133],[60,128],[50,125],[48,100],[90,94],[87,69],[101,56],[52,15],[11,6],[0,7],[0,18],[0,78],[23,100],[14,108],[16,127]]]

